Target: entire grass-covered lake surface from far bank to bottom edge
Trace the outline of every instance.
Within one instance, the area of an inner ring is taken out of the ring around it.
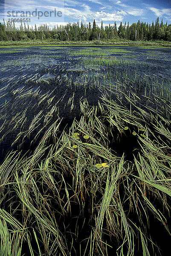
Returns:
[[[84,48],[1,49],[0,253],[168,255],[171,50]]]

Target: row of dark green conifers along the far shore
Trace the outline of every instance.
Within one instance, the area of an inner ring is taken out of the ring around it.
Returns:
[[[20,24],[20,28],[15,27],[15,23],[5,22],[0,23],[0,41],[20,41],[20,40],[43,40],[52,39],[56,41],[92,41],[92,40],[111,40],[114,38],[128,39],[132,41],[171,41],[171,24],[159,23],[159,17],[156,22],[148,24],[146,22],[133,23],[131,25],[120,23],[118,29],[116,22],[111,26],[103,26],[101,21],[101,27],[96,25],[95,20],[93,26],[89,24],[85,25],[79,23],[68,23],[66,26],[57,26],[50,29],[46,24],[43,26],[29,27],[24,23]]]

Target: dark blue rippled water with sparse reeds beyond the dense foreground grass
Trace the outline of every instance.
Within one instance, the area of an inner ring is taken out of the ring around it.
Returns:
[[[41,129],[45,116],[54,106],[56,109],[49,125],[59,118],[64,128],[75,117],[79,118],[80,100],[86,98],[89,105],[97,105],[100,97],[109,95],[111,87],[112,99],[124,97],[129,90],[138,96],[144,93],[149,96],[150,87],[162,84],[162,90],[166,92],[170,81],[171,49],[112,46],[1,48],[1,156],[19,132],[27,131],[40,111],[41,119],[32,136]],[[160,93],[161,86],[157,90]],[[145,97],[142,97],[143,101],[145,105]],[[22,125],[24,118],[20,118],[23,116],[26,121]]]

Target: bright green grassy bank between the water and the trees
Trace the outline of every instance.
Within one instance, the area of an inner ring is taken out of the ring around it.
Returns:
[[[6,47],[34,47],[34,46],[128,46],[128,47],[154,47],[171,48],[168,41],[0,41],[0,48]]]

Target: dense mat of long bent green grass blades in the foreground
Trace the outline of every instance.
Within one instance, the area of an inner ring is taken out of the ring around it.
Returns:
[[[151,130],[146,127],[148,137],[136,135],[141,149],[134,160],[126,160],[125,154],[118,157],[111,148],[111,135],[114,140],[122,137],[128,130],[125,124],[140,130],[144,120],[112,101],[108,104],[92,108],[84,102],[83,116],[69,131],[60,135],[57,120],[29,157],[20,158],[14,152],[1,164],[3,255],[21,255],[22,244],[28,244],[30,255],[133,255],[138,251],[145,255],[152,249],[159,255],[149,236],[150,212],[168,236],[170,230],[148,193],[170,212],[171,157],[166,154],[170,138],[167,130],[163,132],[166,145],[162,146],[157,138],[150,139]],[[98,115],[100,109],[105,112]],[[142,244],[138,246],[133,237]]]

